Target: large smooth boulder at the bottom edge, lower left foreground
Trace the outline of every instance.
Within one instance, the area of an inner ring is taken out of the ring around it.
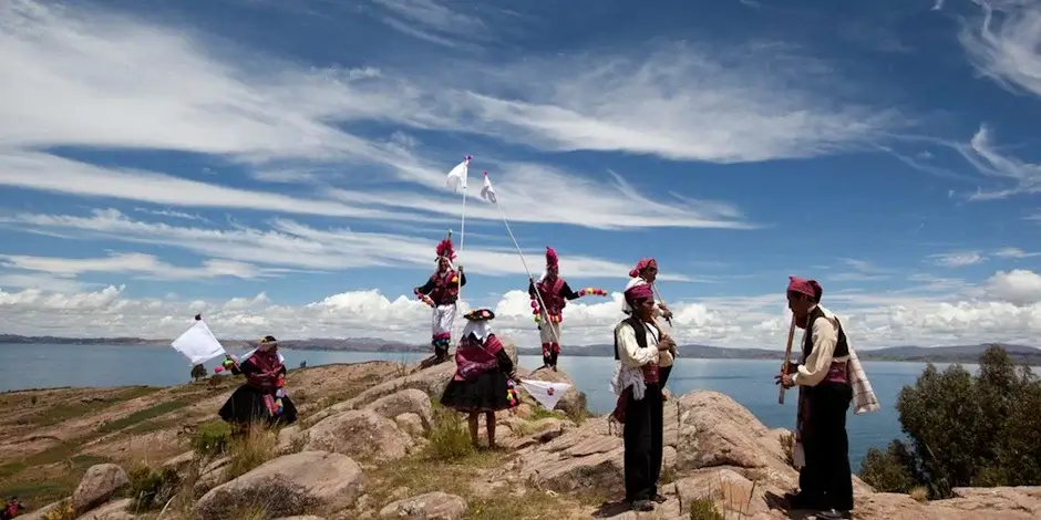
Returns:
[[[351,507],[364,490],[361,467],[350,457],[327,451],[301,451],[270,460],[199,499],[206,519],[234,520],[250,508],[266,518],[292,517]]]

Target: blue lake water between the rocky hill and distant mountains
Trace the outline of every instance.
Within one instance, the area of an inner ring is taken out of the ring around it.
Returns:
[[[426,354],[385,354],[374,352],[282,351],[287,365],[301,361],[308,366],[363,361],[414,363]],[[213,373],[219,360],[207,368]],[[527,367],[542,365],[539,356],[520,356]],[[669,387],[674,395],[692,389],[712,389],[726,394],[748,407],[771,428],[792,428],[795,424],[796,393],[790,391],[784,405],[777,404],[773,376],[780,362],[740,360],[679,358]],[[169,347],[110,345],[0,345],[0,392],[60,386],[176,385],[190,379],[190,366]],[[602,414],[614,407],[615,396],[608,378],[615,366],[610,357],[560,357],[560,370],[588,396],[592,412]],[[942,365],[939,365],[942,367]],[[900,436],[894,409],[904,385],[914,384],[925,364],[866,362],[864,367],[882,402],[876,414],[853,416],[847,423],[849,455],[854,470],[869,447],[885,447]],[[966,368],[975,368],[966,366]],[[216,410],[215,410],[216,413]]]

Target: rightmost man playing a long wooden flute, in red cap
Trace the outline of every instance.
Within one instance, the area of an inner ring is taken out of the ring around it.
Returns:
[[[847,366],[852,350],[838,319],[821,306],[821,284],[789,278],[789,309],[795,325],[806,331],[801,361],[775,377],[785,388],[798,386],[796,458],[803,459],[803,467],[798,492],[789,495],[789,505],[822,511],[821,519],[849,518],[853,477],[846,412],[854,397]]]

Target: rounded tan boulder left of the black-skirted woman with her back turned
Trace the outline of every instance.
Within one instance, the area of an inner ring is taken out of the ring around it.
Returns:
[[[306,450],[332,451],[363,460],[396,460],[415,450],[409,434],[371,409],[327,417],[307,430]]]

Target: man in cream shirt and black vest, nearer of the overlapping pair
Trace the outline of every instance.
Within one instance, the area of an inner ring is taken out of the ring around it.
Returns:
[[[659,358],[674,345],[655,322],[650,285],[636,284],[625,294],[631,315],[615,327],[611,386],[625,398],[623,416],[626,501],[636,511],[650,511],[666,499],[658,492],[661,477],[664,414]],[[616,409],[616,415],[619,410]]]

